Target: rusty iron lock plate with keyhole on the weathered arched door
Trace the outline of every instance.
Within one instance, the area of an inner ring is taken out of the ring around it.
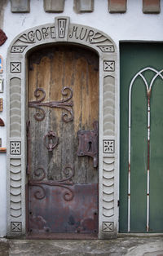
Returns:
[[[94,130],[78,130],[79,147],[77,150],[78,157],[92,157],[94,167],[98,166],[98,121],[94,121]]]

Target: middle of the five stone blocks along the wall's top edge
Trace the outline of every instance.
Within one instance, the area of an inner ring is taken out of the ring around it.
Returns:
[[[74,9],[77,13],[94,11],[94,0],[75,0]]]

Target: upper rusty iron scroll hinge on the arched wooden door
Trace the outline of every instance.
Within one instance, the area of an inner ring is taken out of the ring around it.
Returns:
[[[34,96],[37,98],[37,100],[29,101],[29,108],[36,108],[38,110],[38,112],[34,115],[34,118],[37,121],[42,121],[46,117],[46,113],[45,110],[41,107],[50,107],[62,108],[66,110],[69,115],[68,113],[63,113],[62,120],[65,122],[73,121],[73,100],[70,100],[73,98],[72,88],[64,86],[62,89],[62,95],[67,98],[61,99],[59,101],[43,102],[43,100],[46,98],[46,92],[42,88],[37,88],[34,91]]]

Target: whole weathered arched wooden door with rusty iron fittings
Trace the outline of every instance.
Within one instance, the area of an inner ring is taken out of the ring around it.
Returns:
[[[99,60],[77,46],[29,56],[28,230],[98,233]]]

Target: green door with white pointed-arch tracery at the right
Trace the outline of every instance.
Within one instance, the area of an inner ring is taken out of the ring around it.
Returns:
[[[120,232],[163,232],[163,44],[121,43]]]

